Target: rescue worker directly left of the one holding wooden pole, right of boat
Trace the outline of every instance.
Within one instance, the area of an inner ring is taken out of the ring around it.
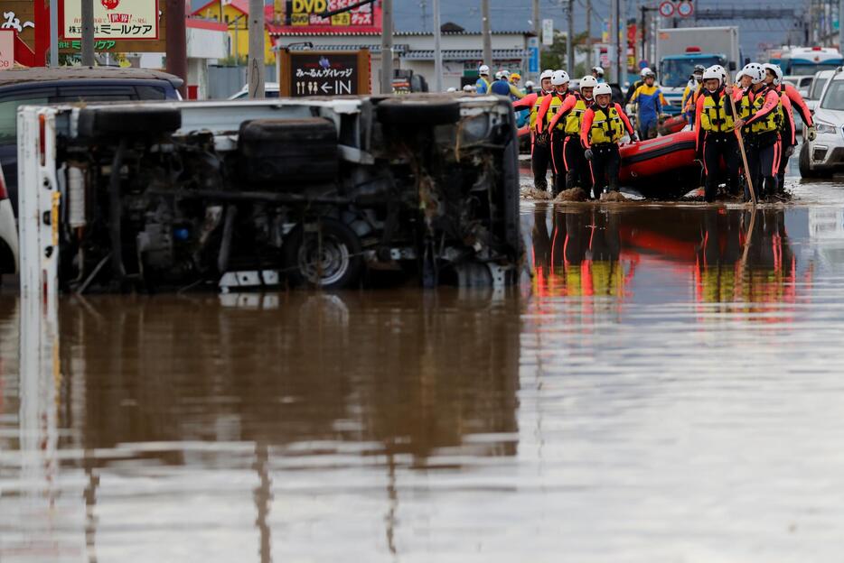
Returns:
[[[722,158],[727,164],[727,189],[730,194],[738,195],[741,159],[733,111],[729,96],[724,92],[724,75],[716,67],[709,67],[702,78],[704,89],[695,106],[695,131],[698,132],[695,148],[706,174],[704,198],[711,202],[717,195]]]

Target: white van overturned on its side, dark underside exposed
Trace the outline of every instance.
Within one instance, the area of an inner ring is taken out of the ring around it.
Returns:
[[[499,97],[24,106],[18,122],[21,265],[40,283],[518,277],[518,149]]]

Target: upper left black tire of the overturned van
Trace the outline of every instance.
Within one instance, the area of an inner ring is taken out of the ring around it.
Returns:
[[[173,133],[182,126],[182,112],[173,107],[98,107],[80,111],[84,137],[121,137]]]

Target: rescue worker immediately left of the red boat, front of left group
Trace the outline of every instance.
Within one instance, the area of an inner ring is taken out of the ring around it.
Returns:
[[[635,143],[636,132],[622,106],[612,103],[613,90],[608,84],[598,84],[593,94],[595,103],[586,109],[580,125],[580,143],[586,149],[584,157],[592,171],[592,197],[600,198],[602,190],[618,191],[618,142],[627,133]]]

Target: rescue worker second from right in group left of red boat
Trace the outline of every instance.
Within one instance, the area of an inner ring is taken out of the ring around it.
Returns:
[[[569,96],[560,106],[557,115],[549,123],[549,130],[563,126],[563,165],[566,169],[566,189],[581,188],[588,192],[592,188],[592,175],[589,163],[583,156],[584,148],[580,144],[580,125],[586,109],[594,103],[593,90],[598,81],[593,76],[580,79],[580,96]],[[560,124],[559,122],[562,121]]]

